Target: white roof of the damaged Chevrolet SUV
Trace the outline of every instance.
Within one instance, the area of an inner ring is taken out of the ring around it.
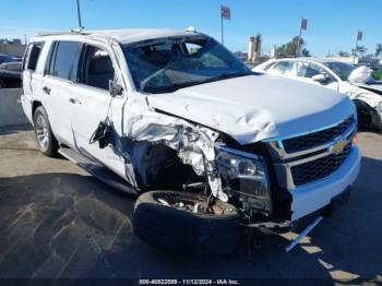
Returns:
[[[190,35],[201,35],[199,33],[193,32],[179,32],[168,28],[157,28],[157,29],[105,29],[105,31],[86,31],[86,32],[73,32],[73,33],[49,33],[41,34],[38,36],[67,36],[67,35],[75,35],[75,36],[86,36],[86,37],[102,37],[102,38],[112,38],[121,44],[130,44],[141,40],[163,38],[163,37],[184,37]]]

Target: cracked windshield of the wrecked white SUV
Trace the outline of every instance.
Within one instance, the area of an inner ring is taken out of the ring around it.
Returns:
[[[166,38],[122,46],[135,87],[145,93],[179,88],[251,71],[225,47],[207,37]]]

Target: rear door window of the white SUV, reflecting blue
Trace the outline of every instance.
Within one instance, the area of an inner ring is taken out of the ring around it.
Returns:
[[[46,74],[76,82],[82,43],[57,41],[50,50]]]

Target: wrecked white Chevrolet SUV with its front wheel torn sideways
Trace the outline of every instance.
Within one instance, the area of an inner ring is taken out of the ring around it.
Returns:
[[[239,225],[315,225],[359,172],[347,96],[253,74],[201,33],[37,36],[23,64],[39,151],[140,195],[134,233],[170,251],[229,253]]]

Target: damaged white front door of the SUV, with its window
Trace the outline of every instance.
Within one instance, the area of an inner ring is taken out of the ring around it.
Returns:
[[[75,102],[72,104],[72,127],[76,148],[93,159],[98,160],[121,177],[126,177],[124,160],[121,155],[120,138],[122,132],[123,96],[111,98],[109,81],[116,76],[116,63],[111,51],[103,46],[85,44],[80,62],[79,82],[73,88]],[[112,143],[100,148],[89,140],[100,121],[109,117],[112,128]]]

